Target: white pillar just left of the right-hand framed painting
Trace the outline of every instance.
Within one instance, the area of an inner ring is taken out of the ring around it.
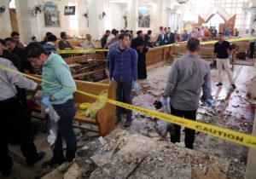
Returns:
[[[127,2],[128,13],[127,13],[127,29],[133,30],[133,32],[137,32],[137,18],[138,18],[138,1],[137,0],[129,0]]]

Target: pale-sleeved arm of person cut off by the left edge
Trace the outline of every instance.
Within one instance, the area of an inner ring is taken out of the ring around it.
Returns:
[[[18,72],[17,68],[11,61],[9,61],[7,67]],[[14,84],[15,86],[19,86],[20,89],[35,90],[38,86],[37,83],[26,77],[23,77],[21,74],[18,74],[16,72],[6,71],[6,75],[9,78],[10,83]]]

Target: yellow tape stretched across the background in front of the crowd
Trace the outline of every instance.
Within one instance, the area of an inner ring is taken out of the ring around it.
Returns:
[[[239,41],[247,41],[247,40],[255,40],[256,37],[252,38],[230,38],[230,39],[225,39],[226,41],[232,43],[232,42],[239,42]],[[207,42],[201,42],[201,45],[205,44],[212,44],[212,43],[217,43],[217,40],[213,41],[207,41]],[[185,43],[183,43],[185,44]],[[171,46],[179,46],[183,44],[177,44],[177,43],[172,43],[172,44],[167,44],[167,45],[162,45],[160,47],[171,47]],[[57,50],[57,54],[84,54],[84,53],[91,53],[91,52],[104,52],[108,51],[108,49],[67,49],[67,50]]]

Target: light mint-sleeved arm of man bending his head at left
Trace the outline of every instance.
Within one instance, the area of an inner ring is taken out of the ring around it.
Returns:
[[[56,100],[60,100],[67,95],[71,95],[77,90],[76,84],[73,80],[71,72],[68,69],[68,66],[60,64],[60,66],[58,66],[58,69],[55,70],[55,78],[57,78],[61,86],[65,86],[68,88],[67,89],[62,87],[61,90],[59,90],[55,94],[52,94]]]

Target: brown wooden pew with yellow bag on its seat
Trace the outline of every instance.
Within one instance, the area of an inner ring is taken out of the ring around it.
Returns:
[[[36,77],[41,78],[41,76],[38,76],[38,75]],[[39,81],[36,80],[36,82],[40,84]],[[108,99],[113,99],[113,100],[116,99],[115,83],[113,83],[112,85],[108,85],[108,84],[84,82],[79,80],[75,80],[75,83],[77,85],[78,90],[81,90],[93,95],[99,95],[102,92],[102,90],[108,90]],[[78,92],[75,92],[73,94],[73,97],[74,97],[73,99],[75,103],[83,103],[83,102],[92,103],[96,101],[95,98],[91,98],[89,96],[80,94]],[[33,106],[32,112],[40,113],[41,109],[38,106]],[[95,130],[95,131],[98,132],[100,136],[106,136],[115,128],[115,106],[107,103],[106,107],[103,107],[101,110],[99,110],[96,113],[96,118],[85,118],[84,116],[80,116],[79,109],[77,109],[76,115],[73,119],[74,121],[78,121],[81,124],[96,125],[98,130]]]

